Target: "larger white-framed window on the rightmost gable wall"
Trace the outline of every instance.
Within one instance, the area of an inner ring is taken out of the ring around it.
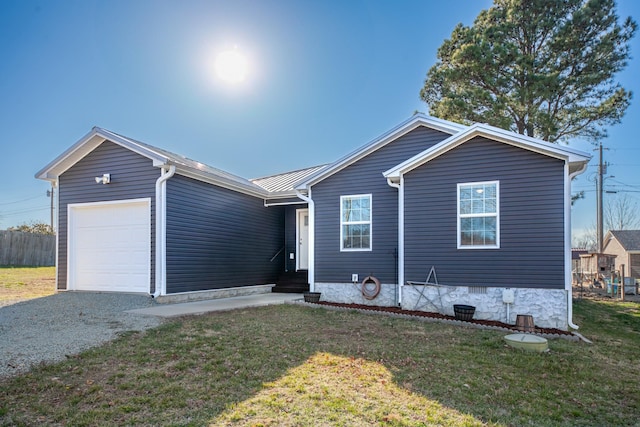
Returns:
[[[458,184],[458,249],[500,247],[499,181]]]

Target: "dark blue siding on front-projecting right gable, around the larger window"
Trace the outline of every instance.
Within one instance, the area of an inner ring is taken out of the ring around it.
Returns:
[[[456,184],[500,182],[500,248],[457,249]],[[405,175],[405,279],[564,287],[564,162],[475,138]]]

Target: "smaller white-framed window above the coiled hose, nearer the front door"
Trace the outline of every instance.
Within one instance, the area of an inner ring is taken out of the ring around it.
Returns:
[[[340,196],[340,250],[371,250],[371,194]]]

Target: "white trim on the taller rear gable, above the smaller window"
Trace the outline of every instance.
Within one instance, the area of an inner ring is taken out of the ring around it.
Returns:
[[[400,123],[398,126],[385,132],[378,138],[375,138],[369,141],[367,144],[363,145],[357,150],[337,160],[333,164],[329,165],[327,168],[319,171],[316,174],[311,175],[308,179],[298,184],[295,187],[296,190],[304,190],[306,188],[311,187],[314,184],[317,184],[318,182],[324,180],[325,178],[328,178],[331,175],[346,168],[347,166],[352,165],[358,160],[368,156],[374,151],[380,149],[381,147],[384,147],[388,143],[400,138],[403,135],[406,135],[407,133],[411,132],[412,130],[420,126],[425,126],[430,129],[438,130],[448,134],[458,134],[462,130],[467,129],[467,126],[461,125],[459,123],[438,119],[436,117],[427,116],[425,114],[415,114],[409,119]]]

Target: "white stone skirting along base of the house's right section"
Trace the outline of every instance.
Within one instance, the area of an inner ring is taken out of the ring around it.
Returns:
[[[380,294],[373,300],[362,295],[359,283],[316,283],[322,301],[364,304],[381,307],[397,306],[397,285],[382,284]],[[518,314],[533,316],[536,326],[568,330],[567,291],[564,289],[511,288],[514,303],[502,302],[505,288],[410,286],[402,288],[402,309],[436,312],[453,316],[454,304],[476,307],[474,319],[496,320],[513,325]]]

